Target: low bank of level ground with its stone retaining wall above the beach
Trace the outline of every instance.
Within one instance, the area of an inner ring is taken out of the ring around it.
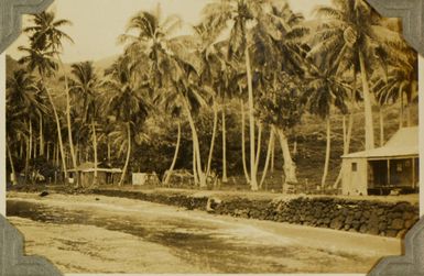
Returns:
[[[57,186],[30,187],[24,192],[42,191],[135,199],[233,218],[287,222],[399,239],[404,238],[407,230],[418,220],[417,198],[416,203],[414,200],[406,201],[411,196],[359,198],[166,188],[143,190],[133,187],[101,187],[88,190],[70,187],[64,189]],[[13,192],[17,191],[11,190],[8,194]]]

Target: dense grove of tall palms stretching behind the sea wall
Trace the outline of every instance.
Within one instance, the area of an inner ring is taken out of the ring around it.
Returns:
[[[93,162],[121,167],[119,185],[133,172],[155,172],[171,185],[172,172],[186,169],[200,188],[241,176],[258,190],[280,166],[286,191],[300,181],[296,130],[307,117],[325,121],[326,133],[325,158],[314,165],[322,179],[312,181],[333,187],[335,115],[344,154],[358,113],[360,150],[379,146],[384,121],[380,112],[374,128],[376,110],[395,104],[399,126],[412,123],[417,60],[399,21],[363,0],[334,0],[314,14],[306,21],[284,1],[215,0],[192,33],[176,35],[182,19],[162,18],[160,8],[140,11],[118,38],[124,53],[106,69],[93,62],[66,69],[62,43],[72,37],[61,29],[70,22],[33,15],[24,30],[30,45],[20,47],[24,55],[7,81],[13,184],[18,175],[67,179],[69,169]],[[93,185],[101,184],[95,177]]]

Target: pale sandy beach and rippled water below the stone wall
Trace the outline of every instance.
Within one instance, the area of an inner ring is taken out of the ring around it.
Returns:
[[[12,192],[25,252],[63,273],[367,273],[401,241],[132,199]]]

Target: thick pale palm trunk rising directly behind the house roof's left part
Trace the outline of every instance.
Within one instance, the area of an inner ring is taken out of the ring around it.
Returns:
[[[367,68],[365,64],[363,54],[359,52],[359,64],[361,68],[361,78],[362,78],[362,90],[363,90],[363,104],[365,104],[365,115],[366,115],[366,150],[374,148],[374,130],[372,121],[372,103],[371,103],[371,93],[370,87],[368,84]]]

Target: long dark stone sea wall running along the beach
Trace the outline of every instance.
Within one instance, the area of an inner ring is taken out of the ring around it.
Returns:
[[[402,238],[418,220],[418,206],[410,202],[348,200],[335,197],[249,200],[242,197],[196,197],[117,190],[96,190],[95,194],[178,206],[189,210],[198,209],[216,214],[391,238]]]

